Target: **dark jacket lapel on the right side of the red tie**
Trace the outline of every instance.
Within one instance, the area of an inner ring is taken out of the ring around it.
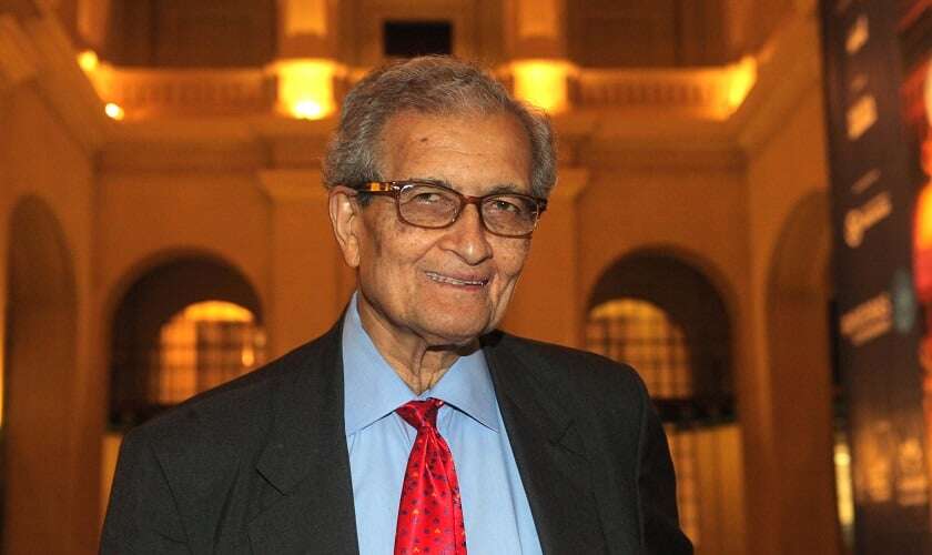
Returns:
[[[511,353],[485,343],[489,371],[544,553],[604,553],[605,538],[580,431]]]

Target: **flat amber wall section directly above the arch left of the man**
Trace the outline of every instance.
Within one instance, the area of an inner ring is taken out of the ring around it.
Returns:
[[[97,220],[107,314],[145,271],[199,252],[239,269],[267,305],[270,206],[251,173],[104,171]]]

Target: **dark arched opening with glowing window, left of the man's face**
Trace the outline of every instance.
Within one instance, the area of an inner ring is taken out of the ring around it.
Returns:
[[[180,255],[135,279],[111,324],[103,505],[129,428],[264,361],[260,299],[232,264],[211,255]]]

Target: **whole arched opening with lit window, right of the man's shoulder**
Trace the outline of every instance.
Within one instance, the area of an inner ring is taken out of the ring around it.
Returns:
[[[680,523],[696,552],[743,553],[731,320],[718,290],[678,256],[627,255],[592,290],[586,346],[631,364],[647,384],[670,442]]]

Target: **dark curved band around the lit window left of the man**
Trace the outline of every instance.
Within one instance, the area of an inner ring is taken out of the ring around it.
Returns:
[[[116,303],[111,327],[110,425],[122,430],[160,410],[151,397],[162,327],[185,307],[205,301],[242,306],[263,322],[259,295],[232,264],[212,255],[184,254],[142,272]]]

